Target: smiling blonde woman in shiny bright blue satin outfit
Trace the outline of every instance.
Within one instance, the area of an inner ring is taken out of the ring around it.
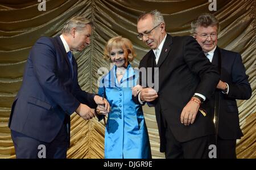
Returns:
[[[132,88],[139,76],[139,71],[129,63],[135,57],[133,45],[121,36],[113,37],[107,42],[104,54],[105,59],[114,63],[98,89],[98,95],[105,96],[112,108],[105,130],[105,158],[151,158],[142,106],[132,99]],[[97,112],[101,120],[104,106],[98,107]]]

